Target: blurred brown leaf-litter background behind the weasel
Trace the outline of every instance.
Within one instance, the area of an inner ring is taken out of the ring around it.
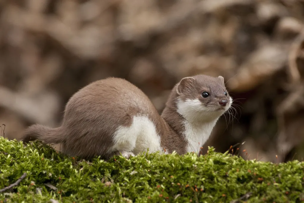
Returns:
[[[235,110],[204,153],[302,160],[303,28],[303,0],[1,0],[1,135],[60,125],[97,79],[129,80],[161,113],[181,78],[222,75]]]

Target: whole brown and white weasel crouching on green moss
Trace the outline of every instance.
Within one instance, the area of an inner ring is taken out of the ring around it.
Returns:
[[[61,143],[63,153],[84,159],[120,153],[129,158],[148,148],[150,153],[197,152],[232,102],[222,76],[195,75],[173,87],[159,115],[138,87],[110,77],[74,93],[60,127],[33,124],[22,141]]]

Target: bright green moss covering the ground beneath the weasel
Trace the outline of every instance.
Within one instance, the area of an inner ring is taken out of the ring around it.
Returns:
[[[0,189],[24,172],[18,186],[0,194],[3,202],[230,202],[248,192],[248,203],[304,199],[303,162],[245,161],[213,148],[199,157],[153,153],[88,162],[38,142],[24,147],[0,138]]]

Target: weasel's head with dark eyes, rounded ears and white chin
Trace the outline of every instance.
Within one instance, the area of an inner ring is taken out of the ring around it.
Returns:
[[[224,78],[207,75],[185,77],[175,86],[177,111],[187,120],[214,120],[232,104]]]

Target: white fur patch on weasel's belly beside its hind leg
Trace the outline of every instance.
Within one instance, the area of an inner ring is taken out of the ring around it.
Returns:
[[[119,126],[114,133],[112,151],[149,153],[161,151],[161,138],[157,135],[155,125],[149,118],[134,116],[131,126]]]

